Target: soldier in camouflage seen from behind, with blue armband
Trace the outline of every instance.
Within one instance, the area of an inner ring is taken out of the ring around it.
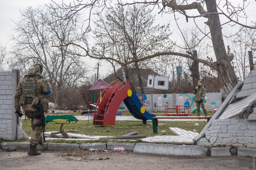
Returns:
[[[18,87],[14,94],[14,107],[16,110],[20,110],[20,106],[25,111],[25,115],[31,118],[33,114],[37,112],[37,108],[33,107],[33,104],[38,104],[39,98],[37,97],[36,85],[34,78],[36,79],[38,91],[40,95],[40,103],[44,106],[44,112],[48,111],[48,100],[52,95],[52,91],[49,86],[49,82],[41,74],[43,66],[41,64],[35,64],[28,70],[28,75],[20,79]],[[16,114],[17,115],[17,114]],[[18,116],[18,115],[17,115]],[[37,125],[36,125],[37,124]],[[40,124],[40,125],[39,125]],[[36,151],[38,144],[43,144],[43,137],[41,133],[43,128],[41,126],[41,119],[31,119],[31,128],[33,130],[30,138],[29,155],[40,155],[41,152]]]

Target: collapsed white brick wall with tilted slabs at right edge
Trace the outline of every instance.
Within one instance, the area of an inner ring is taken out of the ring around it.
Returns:
[[[256,67],[236,85],[193,140],[203,147],[232,144],[256,148]]]

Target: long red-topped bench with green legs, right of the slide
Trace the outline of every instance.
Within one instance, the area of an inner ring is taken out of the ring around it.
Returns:
[[[157,119],[207,119],[207,122],[212,118],[212,116],[157,116],[153,117],[152,119],[152,125],[153,125],[153,133],[158,133],[157,132],[157,126],[158,126],[158,121]]]

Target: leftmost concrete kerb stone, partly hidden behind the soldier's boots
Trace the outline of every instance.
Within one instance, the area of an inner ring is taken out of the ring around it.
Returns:
[[[36,146],[37,150],[43,150],[47,148],[48,143],[39,144]],[[4,142],[2,143],[3,149],[17,149],[17,150],[28,150],[29,142]]]

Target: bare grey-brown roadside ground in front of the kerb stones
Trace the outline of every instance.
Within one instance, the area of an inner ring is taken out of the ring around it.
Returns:
[[[0,169],[12,170],[246,170],[252,169],[252,157],[172,157],[128,152],[43,151],[30,156],[28,151],[0,152]],[[102,158],[102,160],[100,160]],[[81,160],[79,160],[81,159]],[[79,161],[78,161],[79,160]]]

